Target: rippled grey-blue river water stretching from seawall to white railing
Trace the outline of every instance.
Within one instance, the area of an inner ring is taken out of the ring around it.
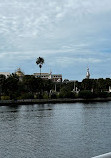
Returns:
[[[111,102],[0,107],[0,158],[91,158],[111,152]]]

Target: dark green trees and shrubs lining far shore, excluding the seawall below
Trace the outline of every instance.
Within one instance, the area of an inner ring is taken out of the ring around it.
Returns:
[[[56,86],[56,91],[55,91]],[[22,81],[12,73],[8,78],[0,75],[1,99],[48,99],[48,98],[96,98],[109,97],[110,78],[84,79],[75,82],[78,91],[74,91],[73,82],[55,83],[52,80],[24,75]]]

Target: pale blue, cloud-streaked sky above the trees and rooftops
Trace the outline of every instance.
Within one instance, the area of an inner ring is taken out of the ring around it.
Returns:
[[[0,72],[111,78],[111,0],[0,0]]]

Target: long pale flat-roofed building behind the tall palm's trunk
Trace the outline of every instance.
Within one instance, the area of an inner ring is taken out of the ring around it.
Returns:
[[[44,80],[52,80],[53,82],[62,82],[62,75],[61,74],[52,74],[52,72],[50,73],[34,73],[33,74],[36,78],[41,77]]]

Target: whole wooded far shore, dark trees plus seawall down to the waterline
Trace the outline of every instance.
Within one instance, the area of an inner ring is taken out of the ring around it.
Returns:
[[[111,79],[53,82],[33,75],[0,75],[0,104],[62,103],[111,100]]]

